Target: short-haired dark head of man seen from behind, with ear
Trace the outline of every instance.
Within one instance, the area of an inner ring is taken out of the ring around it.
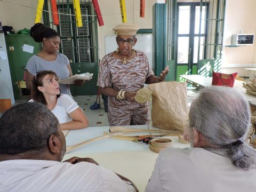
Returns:
[[[14,106],[0,118],[0,161],[61,161],[65,151],[65,137],[58,119],[42,103]]]

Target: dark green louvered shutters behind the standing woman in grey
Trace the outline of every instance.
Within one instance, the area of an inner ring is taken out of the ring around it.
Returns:
[[[59,12],[59,26],[54,26],[51,12],[44,12],[44,24],[58,31],[60,34],[60,52],[65,54],[71,62],[94,62],[92,28],[95,25],[92,18],[91,2],[80,2],[83,27],[76,26],[73,1],[57,1]],[[45,10],[51,10],[50,1],[45,1]]]

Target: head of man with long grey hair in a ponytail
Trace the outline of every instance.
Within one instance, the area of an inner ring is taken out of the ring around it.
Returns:
[[[245,141],[250,118],[249,103],[242,94],[230,87],[207,87],[190,107],[191,145],[226,151],[236,166],[247,169],[255,162],[255,150]]]

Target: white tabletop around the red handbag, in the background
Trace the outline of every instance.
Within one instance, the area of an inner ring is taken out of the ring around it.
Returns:
[[[185,78],[190,82],[194,82],[202,87],[212,86],[212,77],[203,77],[201,75],[180,75],[180,77]],[[233,88],[242,93],[247,101],[252,103],[252,105],[256,105],[256,97],[246,93],[246,89],[243,87],[243,81],[238,81],[235,79]]]

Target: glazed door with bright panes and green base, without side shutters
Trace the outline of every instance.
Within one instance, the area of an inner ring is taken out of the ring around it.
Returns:
[[[206,47],[200,45],[198,51],[198,44],[206,44],[208,7],[209,3],[178,3],[177,81],[180,75],[197,74],[198,58],[206,57]]]

